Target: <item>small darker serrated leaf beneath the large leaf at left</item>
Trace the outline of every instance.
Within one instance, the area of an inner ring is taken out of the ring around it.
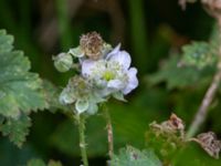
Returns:
[[[29,127],[31,126],[31,118],[27,115],[21,115],[18,120],[8,118],[4,124],[0,126],[0,131],[6,136],[8,135],[10,141],[21,147],[25,141],[25,136],[29,134]]]

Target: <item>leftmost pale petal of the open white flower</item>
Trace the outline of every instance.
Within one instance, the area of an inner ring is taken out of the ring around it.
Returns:
[[[96,66],[96,61],[93,60],[84,60],[82,62],[82,75],[88,76],[92,73],[92,69]]]

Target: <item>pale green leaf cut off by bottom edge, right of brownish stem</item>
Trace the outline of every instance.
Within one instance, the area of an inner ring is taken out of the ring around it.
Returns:
[[[139,151],[127,146],[114,155],[113,166],[161,166],[160,160],[151,151]]]

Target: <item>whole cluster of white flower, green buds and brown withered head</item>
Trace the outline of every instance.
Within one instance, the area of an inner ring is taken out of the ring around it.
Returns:
[[[77,114],[94,114],[110,96],[125,101],[124,95],[138,86],[137,69],[130,68],[129,53],[119,48],[113,49],[97,32],[91,32],[81,37],[78,46],[54,56],[60,72],[78,66],[78,74],[70,79],[60,102],[74,105]]]

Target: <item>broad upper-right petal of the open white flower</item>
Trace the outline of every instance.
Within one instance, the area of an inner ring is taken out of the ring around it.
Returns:
[[[109,59],[112,62],[117,62],[119,65],[122,65],[125,70],[127,70],[130,66],[131,58],[128,52],[126,51],[119,51],[115,54],[113,54]]]

